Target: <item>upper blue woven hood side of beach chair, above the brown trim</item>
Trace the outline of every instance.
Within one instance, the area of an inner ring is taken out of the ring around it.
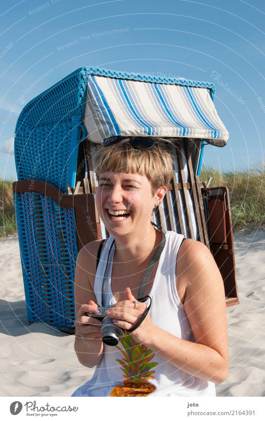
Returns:
[[[86,83],[78,69],[24,107],[15,130],[18,180],[46,181],[63,192],[74,185]]]

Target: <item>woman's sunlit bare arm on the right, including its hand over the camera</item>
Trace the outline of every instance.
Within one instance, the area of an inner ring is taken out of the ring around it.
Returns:
[[[221,274],[202,243],[186,240],[181,248],[183,258],[178,261],[178,272],[181,285],[184,285],[183,281],[186,284],[184,310],[195,342],[180,339],[153,325],[149,315],[132,335],[135,341],[143,343],[175,367],[204,380],[221,383],[228,373],[226,306]],[[127,299],[131,303],[123,301],[122,314],[118,308],[117,313],[113,313],[113,317],[119,319],[116,324],[127,329],[144,310],[142,303],[133,309],[130,294],[127,293]]]

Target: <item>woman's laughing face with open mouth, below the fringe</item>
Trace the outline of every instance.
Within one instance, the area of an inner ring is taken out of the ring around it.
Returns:
[[[156,196],[145,175],[109,171],[99,176],[95,201],[108,232],[117,236],[150,228]]]

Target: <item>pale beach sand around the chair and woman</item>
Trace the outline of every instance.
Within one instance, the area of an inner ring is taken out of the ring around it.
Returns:
[[[230,369],[217,396],[265,396],[265,231],[235,235],[240,304],[227,308]],[[93,374],[74,336],[28,325],[17,237],[0,240],[0,396],[70,396]]]

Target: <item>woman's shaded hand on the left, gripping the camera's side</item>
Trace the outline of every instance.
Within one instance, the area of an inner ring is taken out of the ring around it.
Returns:
[[[76,337],[82,339],[101,339],[102,322],[95,317],[89,317],[87,313],[96,313],[98,305],[90,300],[88,304],[82,304],[74,326],[76,327]]]

